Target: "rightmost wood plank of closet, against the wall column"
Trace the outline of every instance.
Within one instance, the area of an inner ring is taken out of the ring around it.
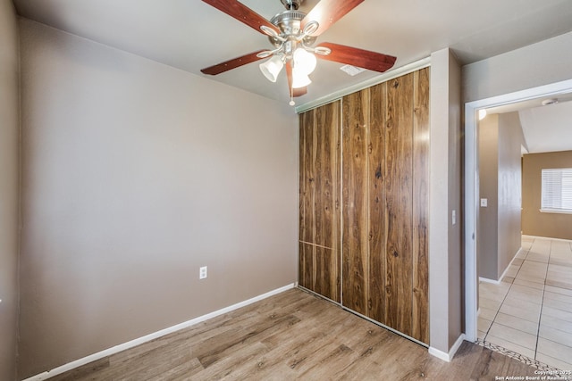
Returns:
[[[414,73],[413,114],[413,327],[429,344],[429,68]]]

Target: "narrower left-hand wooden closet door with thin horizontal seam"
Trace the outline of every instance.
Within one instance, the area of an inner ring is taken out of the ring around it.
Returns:
[[[340,102],[299,125],[299,284],[340,302]]]

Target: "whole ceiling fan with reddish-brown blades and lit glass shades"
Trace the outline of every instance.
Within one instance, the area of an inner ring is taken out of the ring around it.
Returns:
[[[390,69],[395,63],[396,58],[391,55],[356,47],[332,43],[314,46],[316,37],[364,0],[321,0],[309,13],[298,11],[304,0],[281,1],[286,11],[267,21],[238,0],[203,0],[268,36],[273,49],[245,54],[201,71],[217,75],[268,58],[260,64],[260,70],[267,79],[275,82],[282,68],[286,67],[290,105],[294,105],[293,97],[307,94],[307,85],[311,83],[308,75],[315,69],[316,57],[380,72]]]

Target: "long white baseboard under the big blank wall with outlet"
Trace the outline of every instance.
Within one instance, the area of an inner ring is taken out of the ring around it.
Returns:
[[[49,377],[54,377],[54,376],[60,375],[64,372],[67,372],[68,370],[76,369],[82,365],[86,365],[89,362],[103,359],[104,357],[110,356],[112,354],[125,351],[126,349],[130,349],[130,348],[133,348],[134,346],[147,343],[151,340],[155,340],[158,337],[171,334],[172,332],[179,331],[183,328],[194,326],[195,324],[198,324],[198,323],[205,321],[207,319],[212,319],[212,318],[217,317],[219,315],[223,315],[224,313],[228,313],[230,311],[238,310],[238,309],[240,309],[240,307],[247,306],[248,304],[252,304],[253,302],[261,301],[261,300],[263,300],[267,297],[273,296],[275,294],[280,294],[286,290],[290,290],[291,288],[294,288],[295,286],[296,286],[296,284],[292,283],[290,285],[277,288],[277,289],[270,291],[266,294],[261,294],[261,295],[255,296],[254,298],[248,299],[244,302],[238,302],[236,304],[232,304],[231,306],[225,307],[221,310],[207,313],[206,315],[199,316],[198,318],[195,318],[195,319],[190,319],[188,321],[185,321],[181,324],[177,324],[177,325],[172,326],[172,327],[167,327],[167,328],[161,329],[160,331],[154,332],[154,333],[149,334],[149,335],[144,335],[144,336],[139,337],[135,340],[131,340],[127,343],[115,345],[114,347],[105,349],[104,351],[97,352],[94,354],[90,354],[89,356],[86,356],[82,359],[71,361],[67,364],[60,366],[60,367],[57,367],[55,369],[52,369],[52,370],[49,370],[49,371],[46,371],[43,373],[40,373],[36,376],[26,378],[25,380],[22,380],[22,381],[41,381],[41,380],[45,380]]]

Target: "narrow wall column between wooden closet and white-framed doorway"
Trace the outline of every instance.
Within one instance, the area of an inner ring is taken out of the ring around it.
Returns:
[[[449,49],[431,54],[429,335],[431,347],[445,353],[463,329],[460,80]]]

